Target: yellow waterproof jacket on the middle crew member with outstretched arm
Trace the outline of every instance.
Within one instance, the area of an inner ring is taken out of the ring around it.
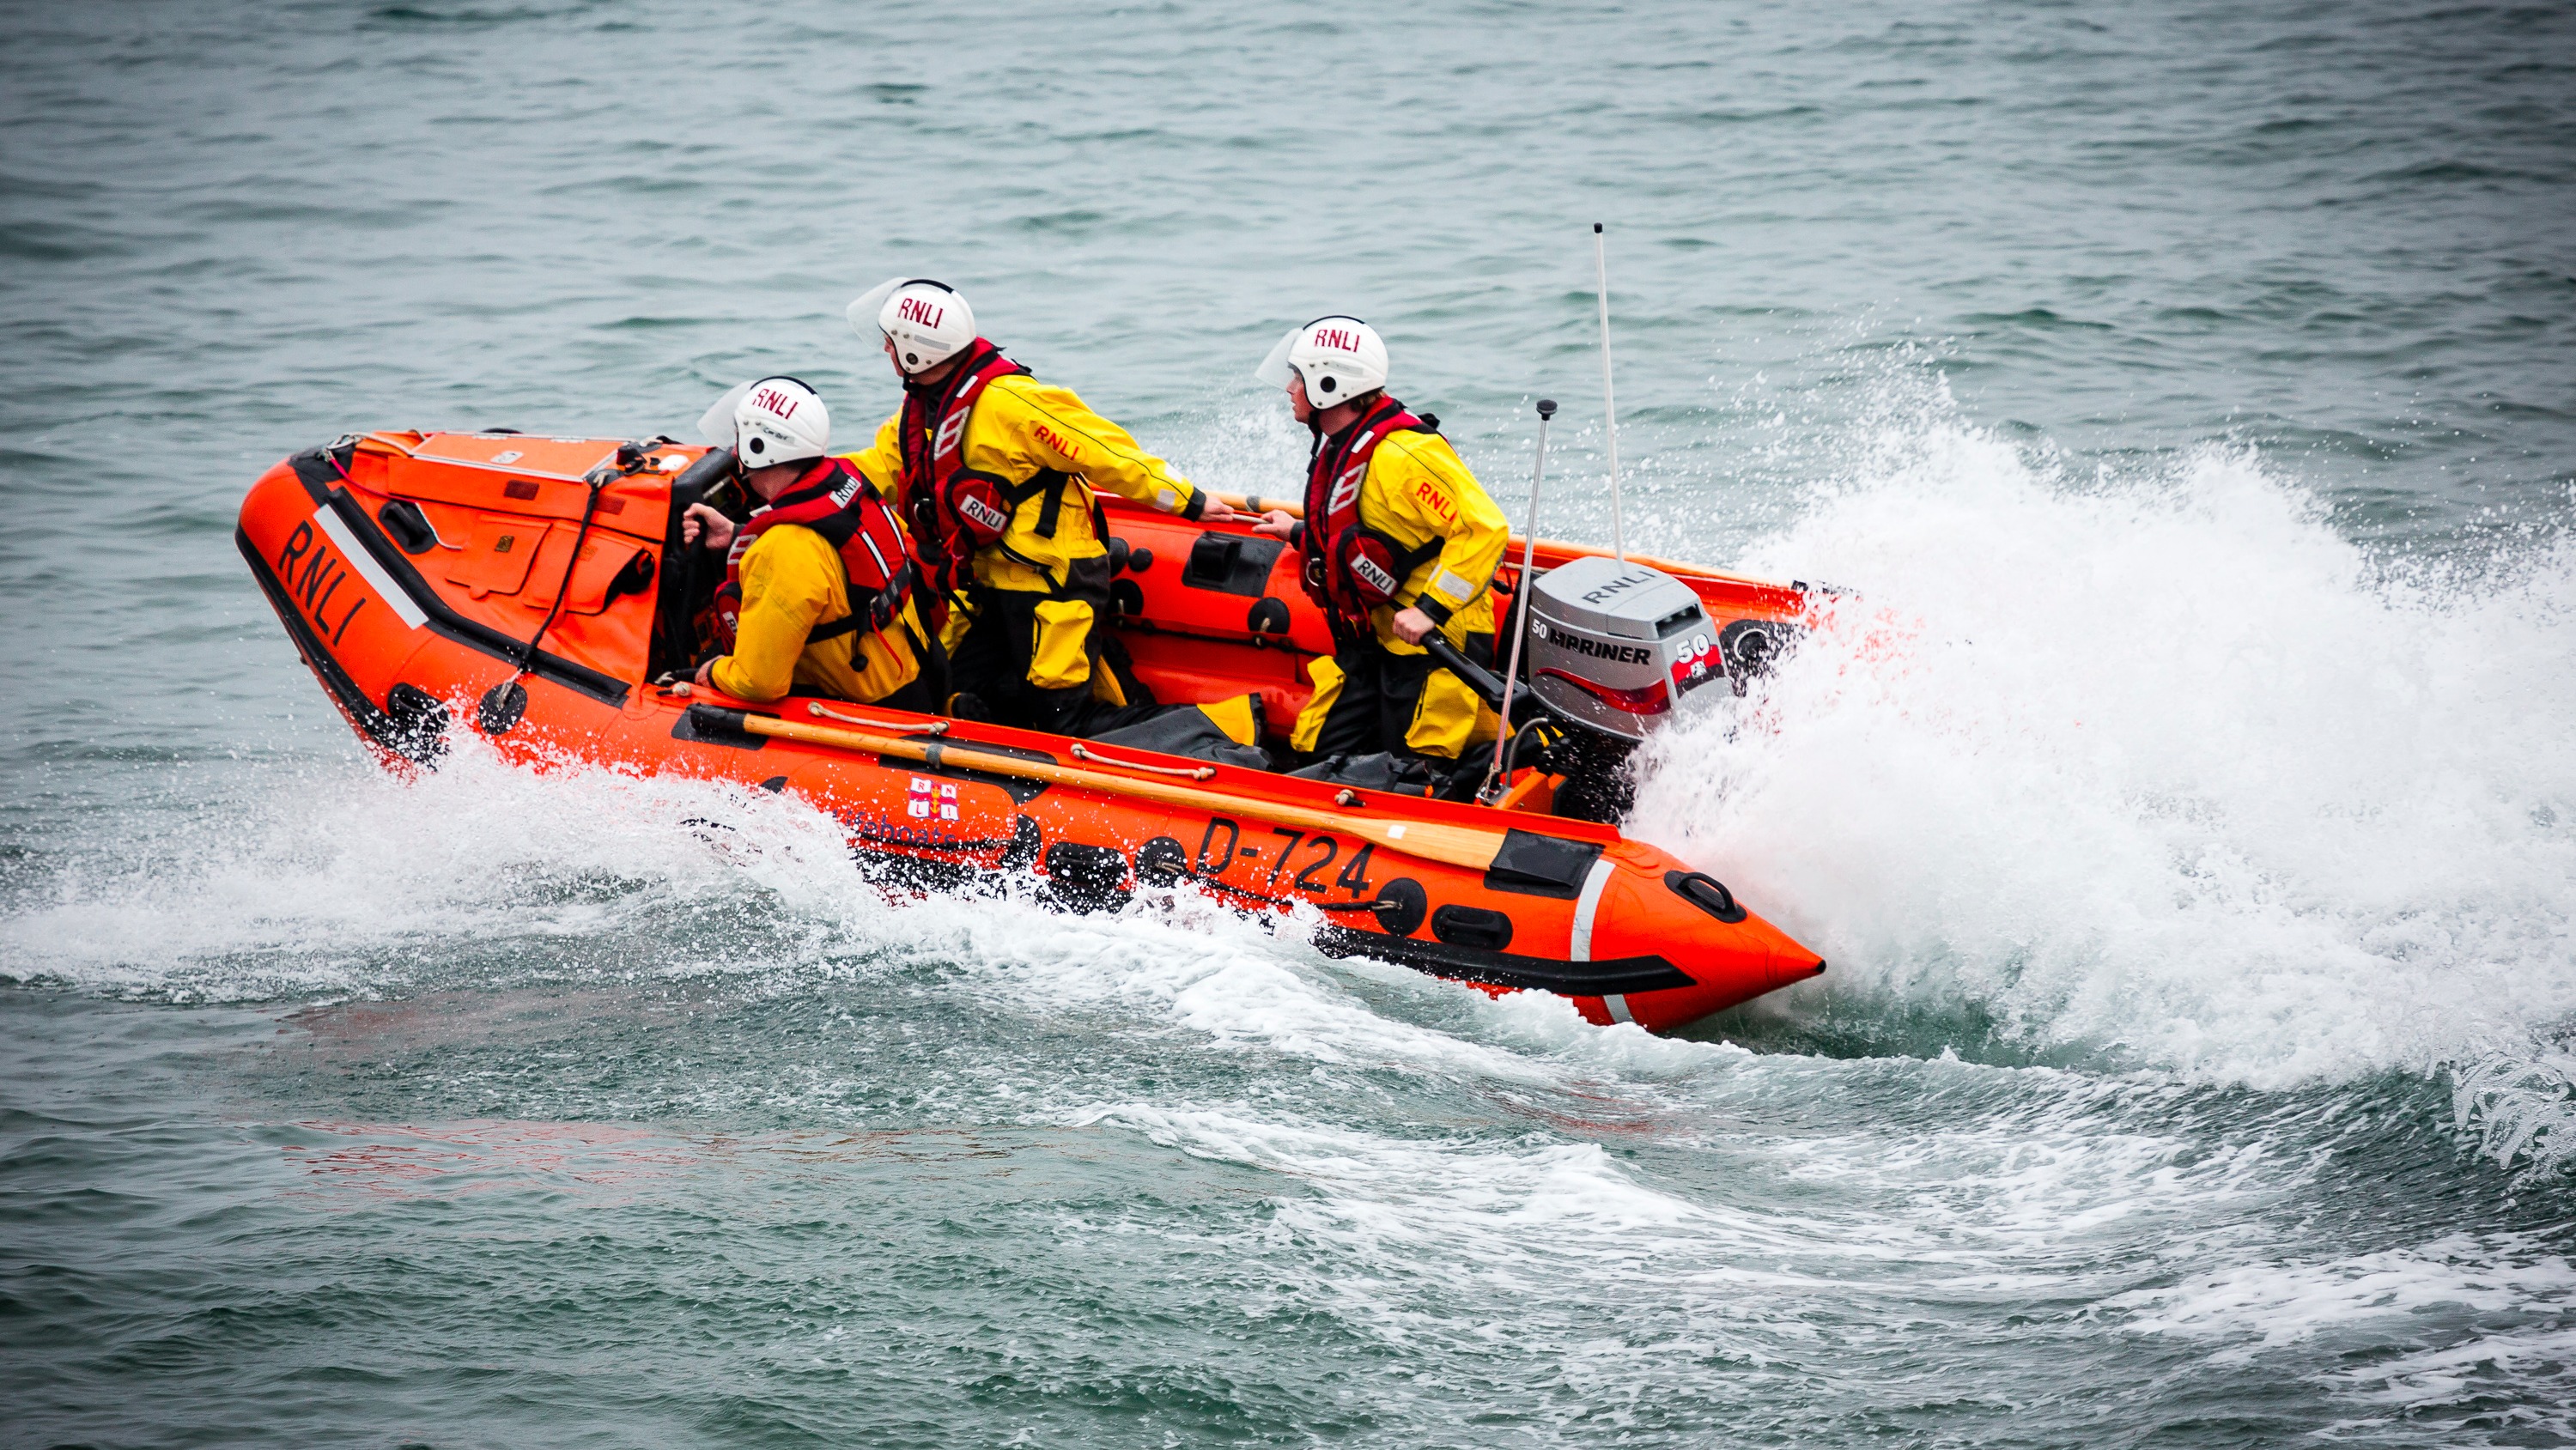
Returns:
[[[876,443],[853,453],[863,474],[909,515],[909,489],[927,479],[904,476],[904,410],[876,430]],[[1162,513],[1198,518],[1208,494],[1172,471],[1170,464],[1136,446],[1126,428],[1100,417],[1072,389],[1015,373],[984,384],[966,420],[969,469],[1025,484],[1041,471],[1069,474],[1064,505],[1056,510],[1054,538],[1038,533],[1046,494],[1020,502],[1002,541],[974,556],[976,585],[992,590],[1056,592],[1066,567],[1110,551],[1092,528],[1092,489],[1108,489]]]

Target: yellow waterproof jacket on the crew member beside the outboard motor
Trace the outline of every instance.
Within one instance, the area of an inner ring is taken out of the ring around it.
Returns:
[[[1486,585],[1494,582],[1494,567],[1512,541],[1512,525],[1448,438],[1437,433],[1381,438],[1378,451],[1368,456],[1368,476],[1360,479],[1360,523],[1404,549],[1440,541],[1440,554],[1404,577],[1396,600],[1370,613],[1378,644],[1396,654],[1422,654],[1419,644],[1396,639],[1394,618],[1406,605],[1432,616],[1450,644],[1494,631],[1494,592]]]

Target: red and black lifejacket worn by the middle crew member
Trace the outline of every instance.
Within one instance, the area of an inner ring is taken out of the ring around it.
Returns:
[[[1064,513],[1064,487],[1072,474],[1038,469],[1023,482],[966,466],[966,425],[974,404],[994,379],[1025,373],[999,348],[976,337],[958,353],[953,373],[938,384],[904,384],[904,515],[912,520],[912,549],[930,585],[953,595],[969,582],[979,549],[992,549],[1010,531],[1020,505],[1046,494],[1038,536],[1056,536]]]

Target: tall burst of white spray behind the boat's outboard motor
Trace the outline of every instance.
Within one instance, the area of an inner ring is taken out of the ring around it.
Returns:
[[[1935,399],[1744,567],[1857,590],[1633,829],[1847,999],[2300,1084],[2576,1012],[2576,549],[2375,569],[2246,453],[2071,474]]]

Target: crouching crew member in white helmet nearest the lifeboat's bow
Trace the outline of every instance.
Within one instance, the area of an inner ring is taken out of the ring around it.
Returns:
[[[832,415],[796,379],[760,379],[734,404],[734,466],[762,507],[739,528],[690,505],[680,538],[726,549],[698,683],[739,701],[788,693],[935,711],[933,657],[904,531],[876,487],[829,458]],[[721,407],[721,404],[719,404]]]

